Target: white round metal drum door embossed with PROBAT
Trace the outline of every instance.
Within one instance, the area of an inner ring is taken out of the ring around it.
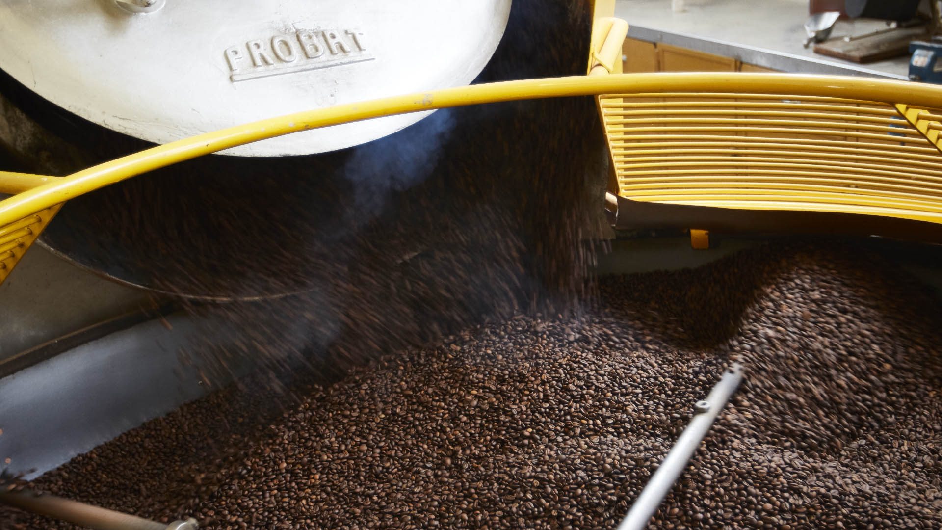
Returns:
[[[511,0],[0,0],[0,69],[96,124],[166,143],[308,108],[466,85]],[[375,140],[428,113],[237,147],[273,157]]]

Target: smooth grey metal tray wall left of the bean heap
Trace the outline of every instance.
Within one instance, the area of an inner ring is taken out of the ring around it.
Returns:
[[[206,339],[198,321],[145,320],[0,378],[0,471],[32,479],[227,384],[206,385],[180,363],[178,352]],[[251,369],[234,364],[232,380]]]

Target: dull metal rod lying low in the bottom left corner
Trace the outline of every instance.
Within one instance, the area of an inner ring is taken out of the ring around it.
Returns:
[[[95,530],[196,530],[197,527],[192,519],[170,524],[154,522],[28,489],[0,493],[0,503]]]

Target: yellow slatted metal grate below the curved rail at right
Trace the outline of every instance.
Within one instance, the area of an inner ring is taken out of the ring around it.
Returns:
[[[934,109],[788,93],[598,101],[625,198],[942,223],[942,156],[927,140],[942,130]]]

